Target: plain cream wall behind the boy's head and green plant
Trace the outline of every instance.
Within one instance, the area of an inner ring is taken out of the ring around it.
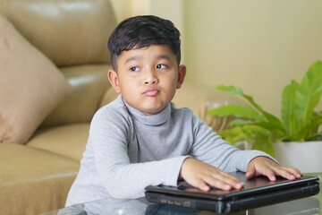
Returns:
[[[154,14],[182,32],[187,79],[236,85],[280,116],[284,86],[322,60],[320,0],[112,0],[118,21]],[[318,110],[322,109],[322,102]]]

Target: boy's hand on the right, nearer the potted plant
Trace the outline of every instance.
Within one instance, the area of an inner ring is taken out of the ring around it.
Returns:
[[[289,180],[301,178],[301,171],[293,167],[283,167],[276,163],[273,159],[267,157],[257,157],[250,160],[246,170],[246,177],[267,176],[270,181],[275,181],[275,176],[283,176]]]

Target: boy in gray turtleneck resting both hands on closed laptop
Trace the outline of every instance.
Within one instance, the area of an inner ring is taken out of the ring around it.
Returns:
[[[175,186],[179,179],[204,191],[241,189],[242,182],[225,173],[237,170],[272,181],[301,177],[264,152],[236,149],[191,109],[174,107],[171,100],[186,74],[179,36],[172,22],[156,16],[130,18],[112,33],[108,79],[121,95],[93,117],[66,206],[109,196],[138,198],[148,185]]]

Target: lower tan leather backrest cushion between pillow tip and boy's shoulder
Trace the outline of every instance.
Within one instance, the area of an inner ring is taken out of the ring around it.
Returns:
[[[47,116],[41,126],[89,123],[111,84],[107,79],[110,64],[84,64],[60,68],[71,83],[72,95]]]

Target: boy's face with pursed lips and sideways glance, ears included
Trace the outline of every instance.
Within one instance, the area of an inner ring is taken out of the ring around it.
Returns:
[[[174,53],[165,45],[123,51],[116,63],[117,73],[108,71],[114,90],[145,115],[157,114],[167,106],[186,73],[186,67],[178,68]]]

